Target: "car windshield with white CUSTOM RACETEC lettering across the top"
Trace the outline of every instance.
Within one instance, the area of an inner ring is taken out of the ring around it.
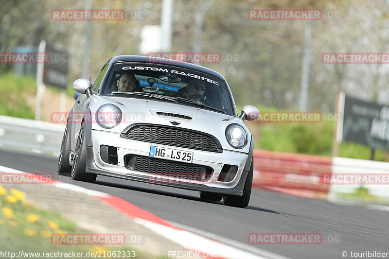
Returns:
[[[175,66],[145,63],[115,64],[106,85],[99,92],[128,98],[167,96],[177,100],[177,104],[211,108],[214,111],[234,115],[230,93],[222,79]],[[143,92],[148,95],[128,94],[131,92]]]

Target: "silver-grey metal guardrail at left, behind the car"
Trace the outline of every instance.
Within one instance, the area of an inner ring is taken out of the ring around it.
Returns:
[[[0,115],[0,146],[58,156],[65,124]]]

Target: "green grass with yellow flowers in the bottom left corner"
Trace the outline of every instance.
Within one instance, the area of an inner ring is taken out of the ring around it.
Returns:
[[[13,200],[8,200],[10,196],[13,197]],[[125,245],[52,244],[50,236],[54,233],[79,234],[90,232],[80,229],[76,224],[61,217],[58,213],[31,206],[23,196],[24,194],[18,190],[7,190],[0,186],[0,251],[14,252],[16,255],[19,251],[36,253],[69,253],[74,251],[75,253],[84,253],[83,258],[89,258],[85,256],[87,252],[100,251],[101,255],[104,255],[105,251],[107,255],[108,251],[111,253],[113,251],[135,251],[136,258],[155,258]],[[28,219],[31,215],[34,215],[35,221]],[[33,259],[35,257],[29,258]],[[111,259],[114,257],[106,256],[104,258]]]

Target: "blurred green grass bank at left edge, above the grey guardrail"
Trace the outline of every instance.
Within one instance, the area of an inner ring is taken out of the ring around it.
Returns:
[[[34,111],[26,100],[35,96],[36,83],[33,76],[0,74],[0,114],[34,119]]]

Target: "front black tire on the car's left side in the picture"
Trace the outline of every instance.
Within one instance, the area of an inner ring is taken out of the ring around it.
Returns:
[[[87,149],[85,147],[85,128],[84,124],[82,124],[74,151],[73,166],[71,167],[71,178],[73,178],[73,180],[94,183],[96,181],[97,174],[85,173],[86,166]]]

